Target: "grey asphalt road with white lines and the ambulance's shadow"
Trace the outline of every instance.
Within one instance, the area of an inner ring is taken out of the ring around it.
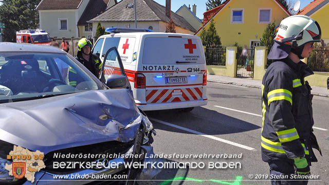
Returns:
[[[207,96],[208,104],[190,113],[147,112],[157,131],[153,143],[156,154],[223,154],[220,158],[167,157],[168,161],[204,163],[205,167],[163,170],[157,179],[175,180],[156,184],[270,184],[268,164],[261,159],[261,90],[208,82]],[[310,169],[319,177],[308,184],[329,184],[328,107],[329,98],[314,97],[314,133],[323,156],[315,151],[319,162]],[[215,162],[217,169],[210,169]],[[234,168],[224,168],[225,162]]]

